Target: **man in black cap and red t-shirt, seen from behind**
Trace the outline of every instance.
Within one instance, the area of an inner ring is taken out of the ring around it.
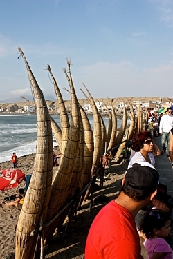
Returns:
[[[133,164],[127,170],[118,198],[104,206],[93,220],[85,259],[143,258],[134,218],[156,195],[158,180],[158,172],[147,162]]]

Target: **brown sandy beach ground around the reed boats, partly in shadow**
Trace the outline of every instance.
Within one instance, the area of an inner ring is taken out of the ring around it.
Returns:
[[[55,153],[58,149],[54,148]],[[26,175],[33,173],[33,164],[35,154],[19,157],[17,166]],[[106,171],[107,179],[104,181],[102,189],[97,188],[93,194],[93,209],[89,212],[89,201],[83,202],[82,209],[78,211],[77,217],[73,220],[67,234],[64,231],[53,236],[51,246],[45,248],[45,258],[62,259],[62,258],[76,258],[82,259],[84,256],[84,245],[89,227],[93,222],[93,218],[104,206],[118,195],[120,190],[121,180],[127,169],[128,162],[120,161],[119,164],[111,163],[111,170]],[[12,168],[12,162],[3,162],[0,164],[0,169]],[[55,171],[56,168],[53,168]],[[25,182],[21,182],[15,189],[8,191],[9,195],[17,194],[17,189],[23,187]],[[99,186],[99,182],[96,182]],[[0,192],[0,202],[3,202],[4,197],[8,195],[7,192]],[[106,196],[106,199],[105,199]],[[0,222],[0,258],[7,256],[9,253],[15,252],[15,228],[19,218],[20,211],[15,208],[0,208],[1,222]]]

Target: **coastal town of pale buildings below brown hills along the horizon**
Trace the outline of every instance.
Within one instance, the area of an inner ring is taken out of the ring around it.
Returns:
[[[129,101],[131,102],[134,112],[137,111],[138,105],[140,103],[140,106],[142,108],[146,108],[147,111],[154,113],[158,112],[162,108],[168,108],[173,105],[173,99],[168,97],[162,97],[162,98],[156,98],[156,97],[127,97],[127,98],[115,98],[113,99],[113,107],[116,111],[116,113],[121,114],[123,113],[123,107],[124,104],[127,108],[127,111],[129,113],[131,112]],[[92,108],[91,104],[87,103],[86,99],[80,99],[80,104],[82,105],[82,108],[84,108],[84,111],[86,114],[92,115]],[[71,113],[71,101],[64,101],[66,105],[66,111],[68,113]],[[48,111],[51,114],[59,115],[60,110],[58,107],[57,101],[46,101],[46,104],[48,106]],[[98,108],[98,111],[102,115],[107,115],[108,110],[111,111],[111,99],[105,98],[105,99],[95,99],[95,105]],[[17,102],[14,104],[8,104],[8,103],[0,103],[0,114],[26,114],[26,113],[36,113],[35,111],[35,104],[31,101],[26,102]]]

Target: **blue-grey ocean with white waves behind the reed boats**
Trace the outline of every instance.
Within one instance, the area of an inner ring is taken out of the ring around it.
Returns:
[[[60,126],[60,116],[53,116]],[[91,127],[93,117],[89,117]],[[107,126],[108,119],[104,118]],[[118,119],[118,128],[121,120]],[[17,157],[36,152],[37,144],[37,115],[0,115],[0,162],[9,161],[12,153]],[[53,146],[57,146],[53,137]]]

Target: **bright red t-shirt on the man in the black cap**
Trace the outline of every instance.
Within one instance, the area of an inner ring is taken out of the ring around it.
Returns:
[[[91,225],[85,259],[140,259],[140,250],[134,216],[112,200]]]

